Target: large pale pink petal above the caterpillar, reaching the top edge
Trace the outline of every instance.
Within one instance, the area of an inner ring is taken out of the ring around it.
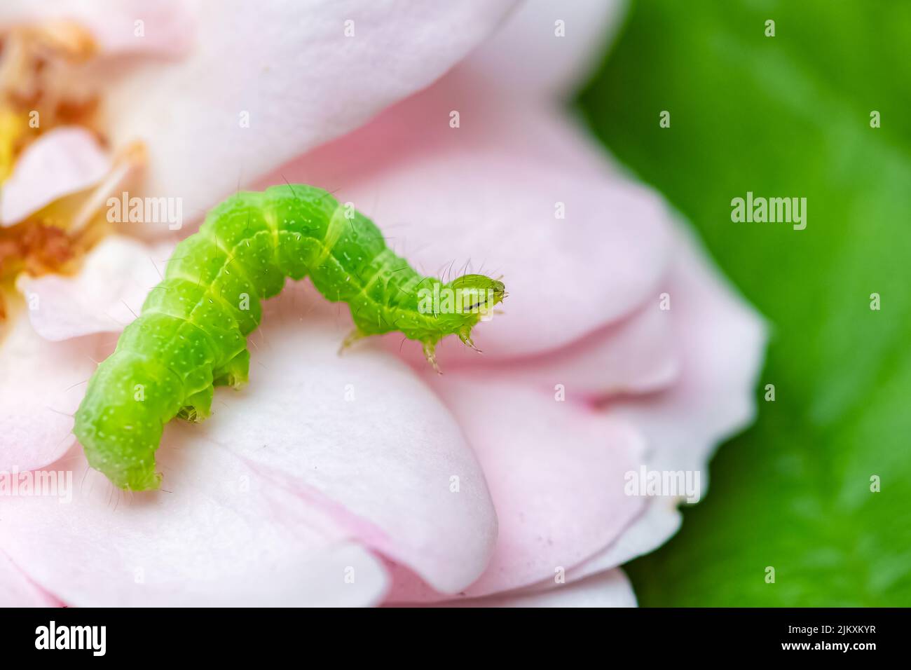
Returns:
[[[148,143],[149,195],[201,214],[432,83],[514,4],[194,3],[189,55],[112,79],[107,130],[114,146]]]

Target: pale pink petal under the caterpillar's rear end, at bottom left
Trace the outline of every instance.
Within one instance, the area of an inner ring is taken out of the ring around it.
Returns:
[[[206,478],[193,468],[203,459],[218,469]],[[187,460],[182,486],[129,496],[87,470],[77,448],[42,471],[59,478],[54,495],[4,500],[0,546],[41,588],[82,607],[382,599],[382,564],[345,543],[319,510],[271,490],[218,449]]]

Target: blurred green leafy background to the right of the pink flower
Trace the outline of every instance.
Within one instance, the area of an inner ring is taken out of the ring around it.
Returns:
[[[911,605],[911,2],[634,2],[577,102],[772,326],[759,418],[628,566],[640,604]],[[733,223],[746,191],[806,230]]]

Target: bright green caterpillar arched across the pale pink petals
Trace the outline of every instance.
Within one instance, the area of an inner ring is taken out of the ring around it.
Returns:
[[[416,273],[373,222],[322,189],[238,193],[178,244],[163,281],[89,380],[73,428],[89,465],[121,489],[157,489],[164,425],[201,421],[214,387],[246,384],[246,337],[260,324],[260,301],[280,293],[286,277],[305,275],[327,299],[350,305],[355,329],[343,348],[401,331],[435,368],[439,340],[458,335],[475,348],[472,328],[506,296],[503,283],[481,274],[443,283]]]

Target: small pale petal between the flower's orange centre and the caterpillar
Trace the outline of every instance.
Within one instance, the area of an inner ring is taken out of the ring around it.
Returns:
[[[47,340],[116,333],[136,318],[148,291],[161,281],[172,249],[112,235],[88,253],[77,276],[21,274],[16,287],[36,305],[28,316]]]

